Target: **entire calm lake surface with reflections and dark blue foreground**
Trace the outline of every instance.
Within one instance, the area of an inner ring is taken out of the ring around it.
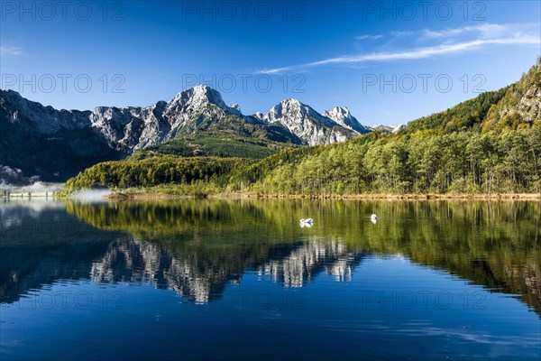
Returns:
[[[539,202],[8,201],[0,359],[539,360],[540,227]]]

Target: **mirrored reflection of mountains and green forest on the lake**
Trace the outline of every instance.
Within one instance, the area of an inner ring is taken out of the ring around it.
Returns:
[[[298,227],[306,215],[314,227]],[[149,283],[205,303],[247,271],[284,287],[309,287],[320,273],[351,281],[375,254],[518,295],[539,315],[540,223],[538,202],[6,202],[0,301],[87,279]]]

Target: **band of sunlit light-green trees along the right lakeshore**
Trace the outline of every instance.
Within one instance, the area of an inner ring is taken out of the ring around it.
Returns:
[[[263,193],[539,192],[540,155],[539,125],[500,134],[367,136],[300,162],[272,167],[264,160],[242,176],[256,178],[249,188]],[[251,171],[261,168],[263,175],[254,177]]]

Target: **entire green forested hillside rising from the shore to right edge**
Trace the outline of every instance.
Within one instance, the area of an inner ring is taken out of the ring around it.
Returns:
[[[139,154],[127,162],[107,162],[107,168],[98,164],[70,180],[68,186],[124,188],[173,183],[197,188],[205,182],[206,189],[269,194],[538,193],[540,106],[541,60],[537,60],[517,83],[411,121],[396,134],[374,132],[344,143],[284,150],[258,162],[197,158],[197,167],[206,162],[210,166],[205,175],[186,178],[158,178],[160,172],[156,171],[176,169],[178,162],[184,174],[195,166],[189,162],[195,161],[155,153],[149,161],[148,154]],[[103,172],[116,174],[126,164],[145,169],[145,177],[124,171],[120,178],[104,178]]]

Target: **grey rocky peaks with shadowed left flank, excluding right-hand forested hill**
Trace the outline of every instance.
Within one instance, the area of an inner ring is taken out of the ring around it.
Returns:
[[[67,180],[97,162],[142,149],[262,158],[287,146],[343,142],[374,131],[346,107],[320,114],[297,99],[244,116],[238,105],[227,106],[218,91],[206,86],[151,106],[98,106],[94,111],[57,110],[0,90],[0,129],[0,165],[48,181]],[[209,143],[220,142],[225,150],[212,153]]]

